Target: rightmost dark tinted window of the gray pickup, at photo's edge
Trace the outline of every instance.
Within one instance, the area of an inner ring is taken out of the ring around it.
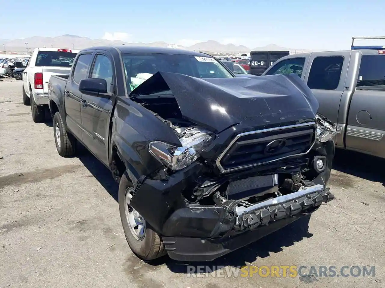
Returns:
[[[363,55],[357,86],[385,85],[385,55]]]

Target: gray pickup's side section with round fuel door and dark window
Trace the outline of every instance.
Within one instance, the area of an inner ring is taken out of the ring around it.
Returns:
[[[385,158],[385,55],[362,55],[346,128],[346,148]]]

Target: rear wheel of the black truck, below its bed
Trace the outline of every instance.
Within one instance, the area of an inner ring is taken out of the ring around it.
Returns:
[[[62,117],[59,112],[56,112],[54,115],[54,138],[57,152],[62,157],[74,156],[76,153],[76,138],[65,130]],[[60,144],[57,139],[56,128],[60,134]]]

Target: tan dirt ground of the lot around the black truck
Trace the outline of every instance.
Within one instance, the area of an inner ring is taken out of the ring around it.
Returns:
[[[84,148],[65,159],[52,122],[32,122],[22,82],[0,79],[0,287],[385,287],[385,161],[338,151],[336,199],[248,247],[194,265],[375,266],[366,277],[190,277],[168,257],[149,265],[124,238],[117,184]],[[190,270],[191,271],[191,270]],[[349,270],[346,270],[349,271]],[[338,274],[338,273],[337,273]]]

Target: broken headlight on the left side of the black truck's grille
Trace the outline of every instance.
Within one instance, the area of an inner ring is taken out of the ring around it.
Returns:
[[[199,127],[189,127],[181,134],[179,141],[182,147],[162,141],[153,141],[149,144],[150,153],[172,170],[181,170],[191,165],[215,138],[214,133]]]

